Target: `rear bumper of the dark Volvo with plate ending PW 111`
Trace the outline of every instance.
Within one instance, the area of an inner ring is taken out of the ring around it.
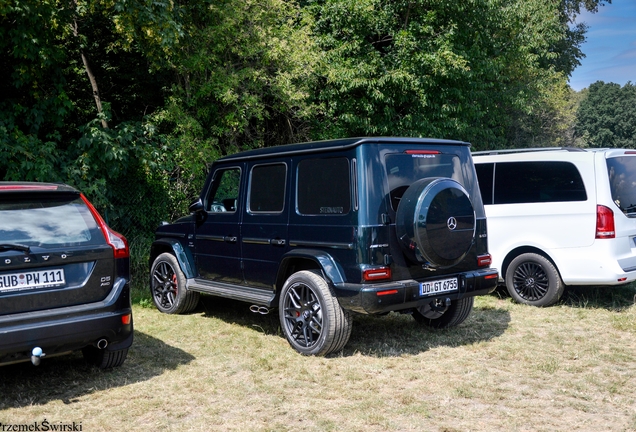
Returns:
[[[0,316],[0,365],[29,360],[34,347],[48,355],[76,351],[106,339],[116,349],[132,344],[130,286],[120,278],[100,302]]]

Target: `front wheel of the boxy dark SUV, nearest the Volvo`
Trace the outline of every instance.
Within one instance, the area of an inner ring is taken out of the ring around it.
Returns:
[[[150,295],[157,309],[167,314],[188,313],[199,304],[199,293],[186,290],[185,275],[170,253],[162,253],[152,264]]]

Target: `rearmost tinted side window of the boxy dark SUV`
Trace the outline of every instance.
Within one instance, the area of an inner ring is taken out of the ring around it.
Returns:
[[[347,158],[305,159],[298,164],[297,209],[303,215],[347,214],[351,210]]]

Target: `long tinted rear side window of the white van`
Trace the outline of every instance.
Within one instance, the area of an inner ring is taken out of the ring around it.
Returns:
[[[570,162],[497,163],[494,197],[495,204],[587,200],[581,174]]]

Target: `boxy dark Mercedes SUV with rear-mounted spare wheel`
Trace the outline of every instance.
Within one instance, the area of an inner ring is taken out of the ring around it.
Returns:
[[[498,277],[469,147],[352,138],[221,158],[192,213],[156,231],[153,301],[165,313],[200,293],[278,307],[308,355],[342,349],[352,313],[458,325]]]

